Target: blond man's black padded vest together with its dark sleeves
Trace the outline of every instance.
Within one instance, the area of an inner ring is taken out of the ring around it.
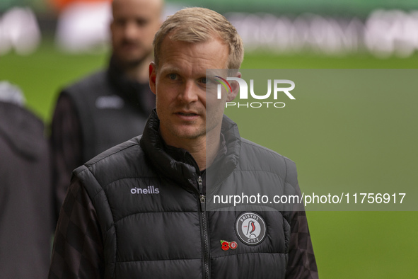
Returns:
[[[154,111],[144,135],[74,171],[50,278],[318,278],[305,212],[207,210],[214,195],[300,193],[293,161],[241,139],[224,117],[221,149],[201,172],[158,127]],[[245,213],[262,227],[256,243],[238,235]]]

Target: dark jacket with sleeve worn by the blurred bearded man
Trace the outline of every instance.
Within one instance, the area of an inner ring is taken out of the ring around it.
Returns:
[[[61,91],[51,126],[57,214],[71,171],[100,152],[141,135],[154,107],[148,82],[128,79],[114,58],[108,69]]]

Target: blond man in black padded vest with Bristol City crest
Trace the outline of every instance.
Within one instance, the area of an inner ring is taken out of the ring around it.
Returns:
[[[74,171],[50,278],[318,278],[304,212],[209,209],[224,191],[300,193],[294,163],[241,138],[223,115],[238,84],[211,93],[207,69],[240,77],[236,29],[219,13],[185,8],[153,45],[156,110],[143,135]]]

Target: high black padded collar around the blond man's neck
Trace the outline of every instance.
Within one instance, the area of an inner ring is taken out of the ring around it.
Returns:
[[[166,146],[159,133],[159,127],[160,120],[154,109],[139,143],[147,159],[158,173],[185,186],[187,190],[190,190],[190,187],[196,190],[199,168],[195,159],[185,149]],[[236,168],[240,153],[241,140],[238,127],[226,115],[223,115],[221,132],[225,138],[226,152],[220,152],[214,164],[206,171],[211,188],[219,185]]]

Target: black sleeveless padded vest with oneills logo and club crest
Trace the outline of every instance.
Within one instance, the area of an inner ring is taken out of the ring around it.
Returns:
[[[154,111],[144,135],[74,172],[98,215],[105,278],[284,278],[290,212],[214,196],[297,194],[294,163],[241,139],[224,116],[226,154],[202,175],[188,152],[165,146],[158,127]]]

